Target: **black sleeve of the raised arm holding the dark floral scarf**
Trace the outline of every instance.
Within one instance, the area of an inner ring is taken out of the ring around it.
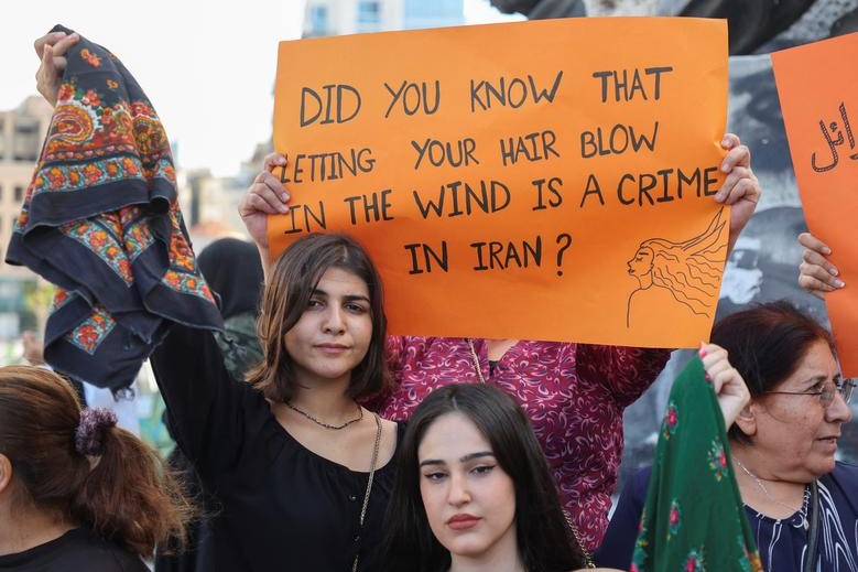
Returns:
[[[174,325],[151,357],[176,445],[205,478],[235,463],[249,386],[232,379],[214,334]],[[261,396],[259,400],[262,400]]]

